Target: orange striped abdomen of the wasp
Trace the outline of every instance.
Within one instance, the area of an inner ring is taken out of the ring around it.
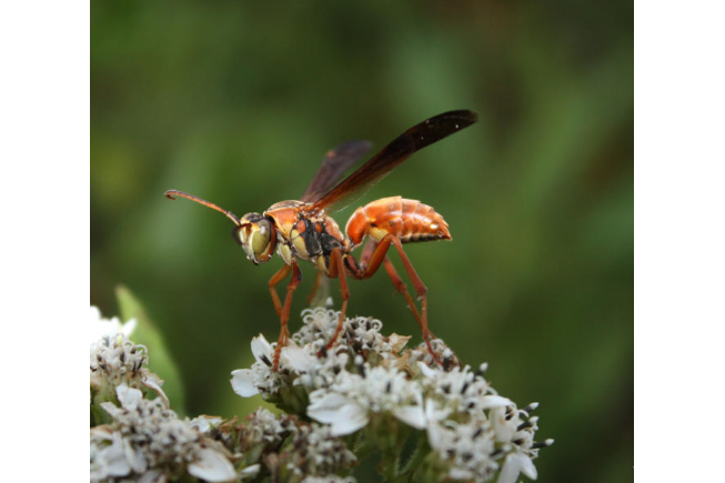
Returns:
[[[355,210],[345,227],[358,245],[365,235],[381,241],[392,234],[403,243],[451,240],[449,224],[433,208],[401,197],[383,198]]]

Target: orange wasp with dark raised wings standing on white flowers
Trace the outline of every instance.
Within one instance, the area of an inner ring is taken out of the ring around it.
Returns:
[[[224,213],[235,224],[232,232],[234,240],[242,245],[246,258],[254,264],[269,261],[275,250],[284,261],[284,265],[269,281],[272,302],[281,323],[273,361],[275,371],[279,368],[281,349],[286,344],[289,338],[288,321],[292,294],[302,281],[299,260],[312,262],[318,270],[313,294],[325,276],[338,279],[340,282],[342,309],[336,330],[328,342],[326,349],[330,349],[340,335],[345,320],[350,299],[348,276],[358,280],[369,279],[382,265],[395,289],[405,298],[420,324],[429,352],[440,363],[431,345],[432,334],[427,328],[427,289],[415,273],[403,251],[403,244],[451,240],[449,227],[443,217],[433,208],[416,200],[402,197],[383,198],[355,210],[343,233],[328,213],[349,205],[415,151],[473,124],[476,120],[476,113],[466,110],[444,112],[427,119],[395,138],[351,175],[334,185],[348,168],[371,147],[367,141],[350,141],[340,144],[328,152],[322,165],[299,201],[274,203],[261,214],[246,213],[242,218],[238,218],[229,210],[183,191],[169,190],[164,193],[172,200],[174,197],[187,198]],[[360,260],[358,260],[352,251],[363,242],[365,245]],[[407,293],[405,282],[387,256],[391,246],[397,251],[405,272],[415,288],[421,301],[420,312]],[[286,296],[282,304],[275,286],[290,273],[292,273],[292,278],[286,286]]]

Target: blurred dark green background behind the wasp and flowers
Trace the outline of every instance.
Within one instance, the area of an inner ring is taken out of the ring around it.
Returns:
[[[261,212],[299,198],[342,141],[380,149],[425,118],[472,109],[479,123],[355,205],[400,194],[450,223],[452,242],[406,249],[432,330],[464,362],[487,361],[502,394],[542,403],[537,436],[556,444],[536,461],[538,481],[632,479],[631,2],[91,9],[91,303],[110,316],[118,284],[138,296],[179,364],[188,414],[260,403],[229,379],[251,363],[253,335],[278,335],[266,281],[281,261],[252,265],[229,220],[163,191]],[[303,270],[293,314],[314,280]],[[420,341],[383,271],[351,292],[351,314]]]

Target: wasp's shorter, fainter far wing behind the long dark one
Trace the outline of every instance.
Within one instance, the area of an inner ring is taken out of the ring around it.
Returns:
[[[322,198],[372,145],[370,141],[348,141],[328,151],[300,201],[313,203]]]

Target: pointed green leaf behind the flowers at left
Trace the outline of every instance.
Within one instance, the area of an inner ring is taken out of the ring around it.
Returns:
[[[115,288],[121,318],[137,320],[137,326],[130,339],[137,344],[143,344],[149,350],[149,370],[163,380],[163,392],[169,398],[171,409],[180,416],[185,415],[184,391],[181,374],[171,352],[167,349],[163,335],[155,328],[139,300],[123,285]]]

